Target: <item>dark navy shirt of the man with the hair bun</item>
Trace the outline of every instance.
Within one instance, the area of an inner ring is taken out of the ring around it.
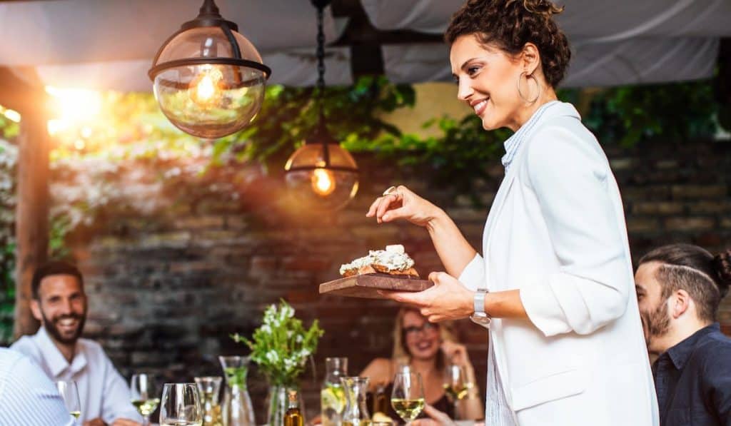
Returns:
[[[718,323],[668,349],[652,372],[661,426],[731,426],[731,339]]]

